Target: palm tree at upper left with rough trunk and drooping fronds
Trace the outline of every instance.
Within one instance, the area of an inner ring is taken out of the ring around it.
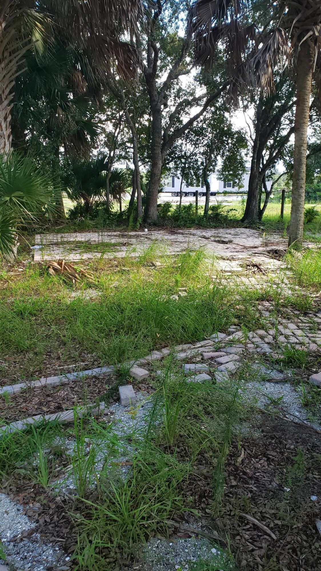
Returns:
[[[103,78],[115,60],[119,75],[137,72],[137,55],[123,31],[135,33],[141,0],[2,0],[0,6],[0,154],[11,151],[11,108],[15,78],[31,46],[41,51],[43,42],[57,33],[65,45],[83,50],[83,61]],[[47,16],[50,14],[50,19]],[[50,20],[54,26],[50,27]]]

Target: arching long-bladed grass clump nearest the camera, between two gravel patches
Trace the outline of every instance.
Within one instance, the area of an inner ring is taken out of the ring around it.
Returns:
[[[128,556],[153,533],[166,533],[166,520],[183,510],[178,490],[186,474],[184,467],[145,444],[141,451],[134,451],[129,473],[102,472],[98,501],[86,501],[89,515],[79,522],[81,536],[75,554],[76,560],[83,560],[89,550],[85,569],[103,569],[106,548]]]

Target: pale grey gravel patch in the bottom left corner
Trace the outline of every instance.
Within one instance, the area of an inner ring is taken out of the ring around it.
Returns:
[[[38,533],[30,539],[10,541],[23,532],[35,529],[36,522],[22,513],[22,506],[0,494],[0,537],[6,553],[6,565],[15,571],[45,571],[61,561],[63,553],[58,546],[43,542]],[[65,557],[62,558],[63,560]]]

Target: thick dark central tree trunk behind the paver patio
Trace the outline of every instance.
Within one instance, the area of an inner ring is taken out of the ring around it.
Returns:
[[[162,176],[162,110],[159,104],[152,106],[151,171],[144,221],[153,224],[157,221],[157,198]]]

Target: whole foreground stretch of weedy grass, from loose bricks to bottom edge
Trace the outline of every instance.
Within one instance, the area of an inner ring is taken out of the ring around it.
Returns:
[[[170,371],[174,377],[169,376]],[[197,515],[193,498],[184,497],[196,461],[214,474],[213,497],[221,493],[216,478],[220,472],[223,482],[232,428],[247,415],[238,385],[188,383],[171,359],[164,363],[163,373],[164,379],[151,397],[154,406],[148,428],[140,433],[133,429],[126,436],[133,465],[122,474],[106,462],[97,499],[83,498],[87,514],[78,522],[76,569],[105,569],[106,554],[133,556],[150,536],[166,536],[167,521],[172,517],[186,511]],[[213,557],[211,565],[218,562],[223,564],[222,558],[215,561]]]

